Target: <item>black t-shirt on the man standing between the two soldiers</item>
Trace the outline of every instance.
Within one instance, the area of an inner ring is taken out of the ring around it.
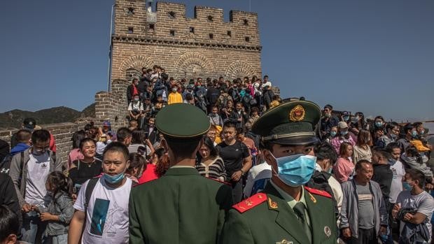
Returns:
[[[239,141],[234,145],[228,145],[223,141],[217,145],[217,150],[223,162],[225,162],[228,178],[232,176],[232,173],[239,171],[243,167],[243,159],[250,155],[246,144]]]

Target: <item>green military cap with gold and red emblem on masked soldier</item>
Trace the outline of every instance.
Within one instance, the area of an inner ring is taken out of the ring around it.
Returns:
[[[321,108],[311,101],[288,101],[262,114],[252,131],[263,141],[282,145],[317,143],[315,127]]]

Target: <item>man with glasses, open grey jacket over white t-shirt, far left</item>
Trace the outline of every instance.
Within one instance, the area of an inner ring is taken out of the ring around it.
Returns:
[[[52,171],[62,171],[62,164],[52,157],[50,132],[47,130],[34,131],[31,144],[23,154],[12,158],[9,175],[22,211],[22,241],[38,243],[45,227],[31,207],[48,206],[50,195],[45,189],[45,182]]]

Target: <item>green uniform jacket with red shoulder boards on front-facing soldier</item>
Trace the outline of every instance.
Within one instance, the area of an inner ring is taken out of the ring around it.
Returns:
[[[241,209],[246,207],[243,213],[236,209],[229,211],[221,243],[309,244],[297,215],[276,189],[268,183],[262,193],[237,204]],[[337,224],[332,200],[306,189],[304,199],[310,216],[312,243],[336,244]]]

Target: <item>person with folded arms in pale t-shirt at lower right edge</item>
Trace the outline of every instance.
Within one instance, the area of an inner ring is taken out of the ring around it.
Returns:
[[[402,230],[405,229],[407,223],[425,224],[428,229],[429,236],[432,235],[430,220],[433,217],[434,199],[428,192],[423,190],[425,176],[416,168],[409,168],[404,176],[402,183],[406,190],[402,191],[396,199],[396,204],[393,207],[392,215],[400,220],[400,241],[410,243],[405,240]],[[416,213],[400,214],[400,209],[414,210]],[[411,243],[431,243],[430,240],[423,240],[421,236],[417,236],[416,240]]]

